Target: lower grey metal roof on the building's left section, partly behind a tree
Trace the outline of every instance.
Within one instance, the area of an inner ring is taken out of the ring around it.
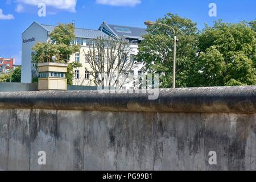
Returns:
[[[57,26],[51,26],[47,24],[41,24],[41,26],[46,29],[48,32],[52,32],[53,29]],[[76,38],[85,38],[85,39],[96,39],[98,37],[106,37],[108,36],[104,32],[100,30],[90,30],[85,28],[76,28],[75,29]]]

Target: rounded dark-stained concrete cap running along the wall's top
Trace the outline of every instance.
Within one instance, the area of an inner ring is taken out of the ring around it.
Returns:
[[[152,90],[151,90],[152,91]],[[146,94],[94,91],[0,92],[0,109],[174,113],[256,113],[256,86],[159,89]]]

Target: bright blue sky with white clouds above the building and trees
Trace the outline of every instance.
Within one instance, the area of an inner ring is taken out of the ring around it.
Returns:
[[[38,3],[46,3],[46,17],[38,16]],[[217,17],[210,17],[209,4],[216,3]],[[21,34],[34,21],[57,24],[76,20],[80,28],[98,29],[109,24],[144,27],[144,20],[156,20],[175,13],[197,22],[199,29],[214,20],[240,22],[256,18],[255,0],[1,0],[0,57],[14,57],[21,64]]]

